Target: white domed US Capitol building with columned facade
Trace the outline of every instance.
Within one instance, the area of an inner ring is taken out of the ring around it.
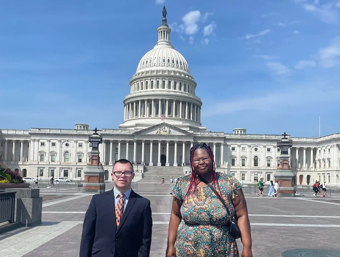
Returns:
[[[104,170],[111,172],[115,161],[126,158],[138,164],[139,171],[145,166],[183,166],[185,174],[190,148],[205,142],[214,151],[218,171],[243,183],[254,183],[261,177],[273,180],[280,155],[276,144],[282,135],[247,134],[245,128],[235,128],[232,133],[210,132],[202,126],[197,83],[183,55],[171,45],[165,16],[157,29],[157,44],[141,58],[130,80],[130,93],[123,99],[123,122],[118,129],[99,131]],[[2,129],[0,160],[22,176],[83,180],[92,133],[85,123],[75,124],[74,129]],[[340,133],[288,138],[293,140],[290,166],[297,185],[312,185],[315,180],[340,185]]]

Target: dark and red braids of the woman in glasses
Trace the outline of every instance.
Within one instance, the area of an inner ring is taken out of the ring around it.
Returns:
[[[190,178],[190,185],[188,188],[188,192],[186,193],[185,197],[188,199],[190,194],[195,194],[195,191],[197,190],[197,185],[200,183],[198,178],[197,173],[195,172],[195,170],[193,169],[193,154],[197,149],[205,149],[208,154],[209,157],[211,159],[211,163],[212,163],[212,167],[211,167],[211,184],[215,189],[215,193],[219,196],[222,195],[220,186],[218,184],[218,179],[216,176],[216,168],[215,168],[215,161],[214,161],[214,153],[211,151],[211,148],[206,144],[196,144],[194,145],[191,149],[190,149],[190,167],[191,167],[191,178]],[[193,188],[193,191],[192,191]],[[218,189],[218,191],[217,191]]]

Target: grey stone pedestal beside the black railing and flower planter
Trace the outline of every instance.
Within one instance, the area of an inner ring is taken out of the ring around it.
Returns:
[[[39,188],[7,188],[5,192],[15,191],[15,221],[23,227],[41,223],[43,198],[39,197]]]

